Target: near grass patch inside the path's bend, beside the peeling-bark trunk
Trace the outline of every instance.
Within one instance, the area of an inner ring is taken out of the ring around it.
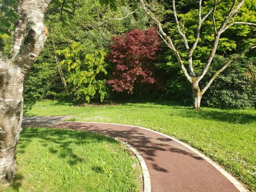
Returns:
[[[140,191],[137,159],[113,138],[58,129],[24,129],[17,180],[7,191]]]

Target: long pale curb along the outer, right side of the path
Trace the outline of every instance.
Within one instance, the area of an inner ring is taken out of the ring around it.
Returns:
[[[68,121],[67,121],[68,122]],[[65,122],[65,123],[67,123]],[[198,151],[197,149],[187,145],[186,143],[179,141],[178,139],[175,139],[169,135],[166,135],[164,133],[160,133],[154,130],[150,130],[147,129],[145,127],[140,127],[140,126],[135,126],[135,125],[126,125],[126,124],[118,124],[118,123],[102,123],[102,122],[74,122],[74,123],[100,123],[100,124],[110,124],[110,125],[124,125],[124,126],[130,126],[130,127],[137,127],[139,129],[143,129],[143,130],[147,130],[147,131],[151,131],[160,135],[163,135],[164,137],[167,137],[169,139],[172,139],[173,141],[176,141],[178,143],[180,143],[182,146],[187,147],[188,149],[190,149],[191,151],[193,151],[195,154],[199,155],[200,157],[202,157],[203,159],[205,159],[205,161],[207,161],[208,163],[210,163],[212,166],[215,167],[215,169],[217,169],[219,172],[221,172],[231,183],[233,183],[233,185],[240,191],[240,192],[248,192],[243,185],[237,181],[231,174],[229,174],[226,170],[224,170],[220,165],[218,165],[217,163],[213,162],[209,157],[205,156],[204,154],[202,154],[200,151]],[[127,144],[127,143],[126,143]],[[143,159],[143,158],[142,158]],[[146,164],[146,163],[145,163]]]

